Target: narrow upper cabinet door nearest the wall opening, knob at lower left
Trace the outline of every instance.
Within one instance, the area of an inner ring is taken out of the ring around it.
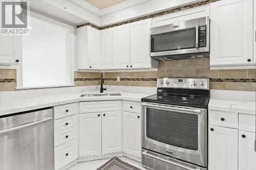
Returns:
[[[100,32],[88,27],[88,65],[89,69],[100,68]]]

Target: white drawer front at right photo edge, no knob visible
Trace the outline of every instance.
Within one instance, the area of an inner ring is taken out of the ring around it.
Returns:
[[[255,133],[255,115],[239,114],[239,130]]]

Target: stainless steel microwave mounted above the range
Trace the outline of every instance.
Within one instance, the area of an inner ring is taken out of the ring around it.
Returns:
[[[157,60],[209,57],[209,17],[151,28],[151,57]]]

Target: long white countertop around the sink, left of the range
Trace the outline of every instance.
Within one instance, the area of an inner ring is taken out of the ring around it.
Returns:
[[[66,94],[54,94],[44,96],[30,96],[19,99],[9,99],[0,101],[0,116],[17,112],[29,111],[45,107],[52,107],[73,102],[83,101],[105,101],[105,100],[127,100],[140,102],[141,98],[152,95],[154,93],[138,93],[138,92],[118,92],[104,91],[103,93],[120,93],[120,96],[90,96],[80,97],[81,94],[99,94],[99,90],[91,90],[86,92],[75,92]]]

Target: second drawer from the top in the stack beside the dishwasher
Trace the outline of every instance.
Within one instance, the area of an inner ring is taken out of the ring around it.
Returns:
[[[76,127],[76,115],[54,120],[54,133]]]

